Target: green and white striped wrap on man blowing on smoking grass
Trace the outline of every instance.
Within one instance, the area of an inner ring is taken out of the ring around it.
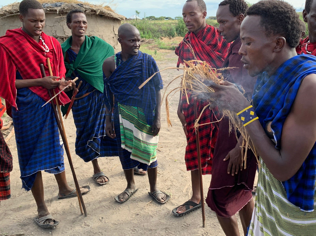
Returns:
[[[276,180],[261,162],[254,212],[248,236],[316,235],[316,195],[314,211],[304,212],[287,199],[282,182]]]

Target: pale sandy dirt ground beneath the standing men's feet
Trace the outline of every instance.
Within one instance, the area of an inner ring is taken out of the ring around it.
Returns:
[[[176,65],[174,52],[166,54],[166,61],[157,62],[160,69]],[[161,73],[164,85],[178,74],[177,70]],[[178,86],[175,81],[169,89]],[[168,91],[170,91],[168,89]],[[163,90],[164,91],[164,90]],[[103,172],[110,182],[98,186],[92,179],[93,167],[75,154],[76,127],[70,113],[65,127],[72,161],[80,186],[91,186],[91,192],[83,195],[88,216],[80,214],[77,198],[58,200],[58,186],[52,174],[43,173],[45,201],[50,213],[60,221],[56,229],[43,229],[33,220],[37,216],[35,200],[31,191],[21,189],[21,179],[15,136],[9,142],[13,155],[11,172],[11,198],[1,202],[0,235],[224,235],[216,215],[205,205],[206,224],[202,227],[201,209],[183,217],[175,217],[172,209],[187,201],[192,194],[190,172],[186,171],[185,134],[177,116],[179,93],[170,100],[170,119],[173,127],[167,126],[165,103],[161,107],[161,132],[158,144],[158,186],[162,191],[172,194],[172,198],[163,205],[152,202],[148,195],[149,182],[146,176],[135,176],[139,190],[124,204],[115,202],[114,197],[126,187],[124,173],[119,157],[101,157],[98,159]],[[67,180],[74,186],[72,174],[65,155]],[[204,198],[206,198],[211,176],[204,176]],[[241,229],[239,217],[238,223]],[[240,235],[243,235],[240,230]]]

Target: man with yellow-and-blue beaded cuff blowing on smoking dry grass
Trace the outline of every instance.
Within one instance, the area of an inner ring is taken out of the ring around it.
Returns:
[[[252,103],[229,82],[208,96],[239,114],[259,154],[248,235],[316,235],[316,57],[297,55],[301,25],[289,3],[260,1],[246,15],[239,54],[258,75]]]

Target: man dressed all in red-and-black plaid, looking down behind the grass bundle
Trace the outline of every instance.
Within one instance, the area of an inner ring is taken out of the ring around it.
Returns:
[[[221,68],[228,53],[227,43],[218,30],[206,24],[206,5],[203,0],[187,0],[182,9],[183,20],[189,32],[179,44],[175,53],[179,56],[177,67],[184,61],[206,61],[212,68]],[[186,169],[191,171],[192,197],[189,201],[173,209],[173,214],[182,216],[201,207],[201,195],[197,162],[197,144],[194,126],[193,96],[189,96],[189,103],[185,95],[180,95],[178,116],[187,139],[185,148]],[[200,115],[206,100],[197,101],[197,115]],[[205,109],[199,123],[205,124],[217,121],[217,109]],[[203,125],[199,128],[202,173],[211,174],[212,156],[216,143],[218,124]],[[203,199],[202,199],[203,201]]]

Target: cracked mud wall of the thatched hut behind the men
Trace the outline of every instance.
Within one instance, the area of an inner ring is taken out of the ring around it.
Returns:
[[[101,15],[89,14],[87,15],[88,29],[86,34],[88,36],[97,36],[112,45],[115,51],[120,49],[118,43],[118,28],[121,21],[114,18],[107,18]],[[22,22],[18,15],[12,15],[0,19],[0,36],[5,35],[8,29],[16,29],[22,27]],[[58,39],[63,43],[70,35],[71,31],[66,25],[65,13],[46,13],[46,26],[44,32]]]

